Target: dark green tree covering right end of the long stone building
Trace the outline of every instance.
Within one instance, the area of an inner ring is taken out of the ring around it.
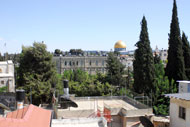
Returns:
[[[108,53],[106,63],[107,80],[109,83],[114,86],[123,86],[125,84],[125,78],[123,78],[125,66],[113,52]]]

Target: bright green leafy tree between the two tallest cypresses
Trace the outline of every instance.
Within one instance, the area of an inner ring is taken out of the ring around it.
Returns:
[[[173,91],[176,92],[174,80],[172,80]],[[175,90],[175,91],[174,91]],[[170,82],[165,76],[164,64],[162,61],[155,64],[155,85],[154,94],[152,94],[153,110],[156,115],[168,115],[169,99],[164,94],[170,93]]]

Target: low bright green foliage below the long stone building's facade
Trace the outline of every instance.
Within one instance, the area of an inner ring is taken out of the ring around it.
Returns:
[[[107,96],[114,91],[108,82],[101,82],[98,75],[82,70],[65,71],[63,78],[69,79],[70,93],[76,96]]]

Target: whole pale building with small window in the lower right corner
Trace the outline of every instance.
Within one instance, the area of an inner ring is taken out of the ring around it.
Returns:
[[[190,81],[177,81],[178,93],[166,94],[170,98],[170,127],[190,126]]]

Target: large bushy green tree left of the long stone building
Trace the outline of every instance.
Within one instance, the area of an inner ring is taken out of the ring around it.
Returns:
[[[56,69],[46,45],[34,42],[33,46],[23,46],[19,63],[18,86],[25,89],[27,96],[32,95],[33,104],[49,102]]]

